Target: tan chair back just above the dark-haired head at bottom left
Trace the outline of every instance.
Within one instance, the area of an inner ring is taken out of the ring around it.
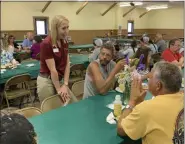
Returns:
[[[26,107],[23,109],[16,110],[15,113],[23,115],[26,118],[31,118],[33,116],[42,114],[42,111],[36,107]]]

